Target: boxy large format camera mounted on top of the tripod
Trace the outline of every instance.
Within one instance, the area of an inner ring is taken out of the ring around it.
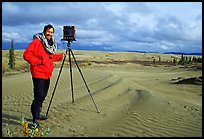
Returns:
[[[75,39],[75,26],[63,27],[63,41],[76,41]]]

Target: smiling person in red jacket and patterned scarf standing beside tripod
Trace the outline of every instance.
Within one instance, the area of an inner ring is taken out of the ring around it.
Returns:
[[[30,71],[34,86],[34,99],[31,104],[33,123],[40,128],[38,120],[45,120],[48,117],[40,114],[42,103],[47,96],[50,85],[50,77],[54,70],[55,61],[63,59],[65,54],[54,54],[56,42],[53,37],[54,27],[46,25],[42,33],[33,36],[33,41],[24,51],[24,60],[30,64]]]

